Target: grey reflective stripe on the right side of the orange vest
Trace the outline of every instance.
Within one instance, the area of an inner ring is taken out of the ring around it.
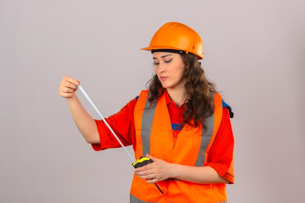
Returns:
[[[214,92],[210,92],[210,96],[214,101]],[[214,129],[214,113],[210,117],[206,118],[206,126],[208,128],[207,130],[202,128],[200,149],[195,166],[203,166],[203,164],[206,161],[205,152],[208,148],[208,145],[210,144],[210,140],[213,135],[213,129]]]

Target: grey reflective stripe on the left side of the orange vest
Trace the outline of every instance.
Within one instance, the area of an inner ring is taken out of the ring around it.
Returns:
[[[142,156],[146,157],[146,154],[151,154],[151,133],[152,133],[152,121],[154,112],[156,110],[156,104],[152,104],[151,108],[149,108],[150,103],[148,101],[147,95],[145,102],[145,109],[143,110],[142,121],[141,121],[141,138],[142,138]]]

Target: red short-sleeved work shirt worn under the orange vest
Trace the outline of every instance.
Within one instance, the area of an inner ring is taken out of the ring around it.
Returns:
[[[164,92],[167,103],[167,108],[170,114],[172,124],[180,124],[183,122],[183,104],[177,108],[175,103],[170,99],[167,91]],[[114,130],[124,146],[133,145],[135,149],[135,128],[134,128],[134,107],[136,98],[126,104],[119,112],[105,118],[107,123]],[[95,120],[99,133],[100,144],[92,144],[96,150],[104,150],[107,148],[120,148],[120,144],[115,139],[112,132],[107,128],[101,120]],[[173,130],[173,143],[175,143],[179,130]],[[229,184],[234,183],[234,175],[228,172],[233,158],[234,138],[230,123],[229,111],[223,109],[223,115],[220,127],[218,129],[215,141],[210,150],[207,166],[212,167],[221,177],[229,181]],[[162,157],[156,157],[162,159]]]

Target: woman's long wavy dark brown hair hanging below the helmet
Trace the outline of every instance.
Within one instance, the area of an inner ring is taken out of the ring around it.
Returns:
[[[191,53],[180,55],[186,64],[183,79],[187,97],[184,102],[184,122],[180,126],[188,124],[197,128],[201,124],[204,129],[207,129],[205,118],[214,112],[214,101],[210,92],[218,93],[216,85],[205,76],[196,55]],[[162,87],[156,74],[147,84],[149,84],[148,90],[150,92],[148,100],[152,106],[152,103],[156,103],[166,89]]]

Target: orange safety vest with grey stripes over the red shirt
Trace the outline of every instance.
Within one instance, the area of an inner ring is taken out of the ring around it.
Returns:
[[[222,101],[217,93],[214,98],[214,114],[206,119],[208,129],[188,128],[179,132],[173,147],[172,124],[164,94],[157,104],[150,106],[149,92],[142,91],[134,109],[136,136],[135,158],[146,153],[169,163],[187,166],[206,166],[210,148],[222,119]],[[131,203],[225,203],[225,184],[195,184],[178,179],[159,181],[158,186],[148,184],[144,179],[133,176],[130,190]]]

